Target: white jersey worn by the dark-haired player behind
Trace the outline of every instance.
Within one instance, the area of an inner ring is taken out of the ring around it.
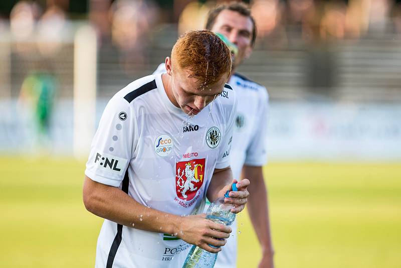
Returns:
[[[154,71],[165,72],[161,63]],[[264,166],[267,162],[266,131],[269,94],[266,88],[248,78],[234,74],[229,84],[238,99],[233,146],[230,151],[230,166],[235,179],[241,178],[242,167]],[[252,178],[251,183],[252,183]],[[207,207],[205,208],[206,212]],[[237,220],[231,226],[232,235],[218,254],[216,268],[235,267],[237,263]]]

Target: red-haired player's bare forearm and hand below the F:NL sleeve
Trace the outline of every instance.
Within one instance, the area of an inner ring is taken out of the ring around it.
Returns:
[[[205,219],[205,215],[181,217],[148,208],[120,188],[93,181],[85,176],[83,188],[85,207],[93,214],[116,223],[145,231],[168,233],[210,252],[219,252],[231,228]]]

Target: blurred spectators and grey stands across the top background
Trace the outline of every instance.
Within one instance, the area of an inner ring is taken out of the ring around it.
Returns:
[[[11,66],[1,70],[1,96],[17,96],[33,68],[52,69],[62,81],[59,94],[70,96],[72,35],[83,21],[98,36],[98,93],[110,96],[152,72],[177,35],[202,29],[209,9],[221,2],[2,1],[2,44],[8,36],[12,45],[9,52],[2,49]],[[399,0],[248,3],[258,38],[241,71],[264,84],[273,99],[401,100]]]

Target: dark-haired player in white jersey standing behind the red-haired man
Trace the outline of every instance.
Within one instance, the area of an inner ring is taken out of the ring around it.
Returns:
[[[211,10],[206,29],[223,34],[238,49],[233,62],[229,84],[238,99],[237,116],[233,132],[233,147],[226,155],[231,158],[234,178],[249,178],[251,193],[248,212],[262,247],[259,268],[273,268],[273,246],[270,235],[268,200],[262,167],[267,162],[266,128],[269,95],[264,86],[236,72],[242,61],[248,58],[256,39],[255,20],[247,5],[229,3]],[[165,72],[161,64],[155,73]],[[229,91],[231,93],[231,91]],[[225,95],[219,98],[227,97]],[[232,268],[237,262],[236,222],[233,235],[219,253],[215,268]]]

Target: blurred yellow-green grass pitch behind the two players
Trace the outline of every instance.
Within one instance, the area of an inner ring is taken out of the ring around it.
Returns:
[[[84,163],[0,157],[0,266],[93,267],[102,219],[82,203]],[[278,268],[400,267],[401,163],[265,168]],[[239,218],[239,267],[260,250]]]

